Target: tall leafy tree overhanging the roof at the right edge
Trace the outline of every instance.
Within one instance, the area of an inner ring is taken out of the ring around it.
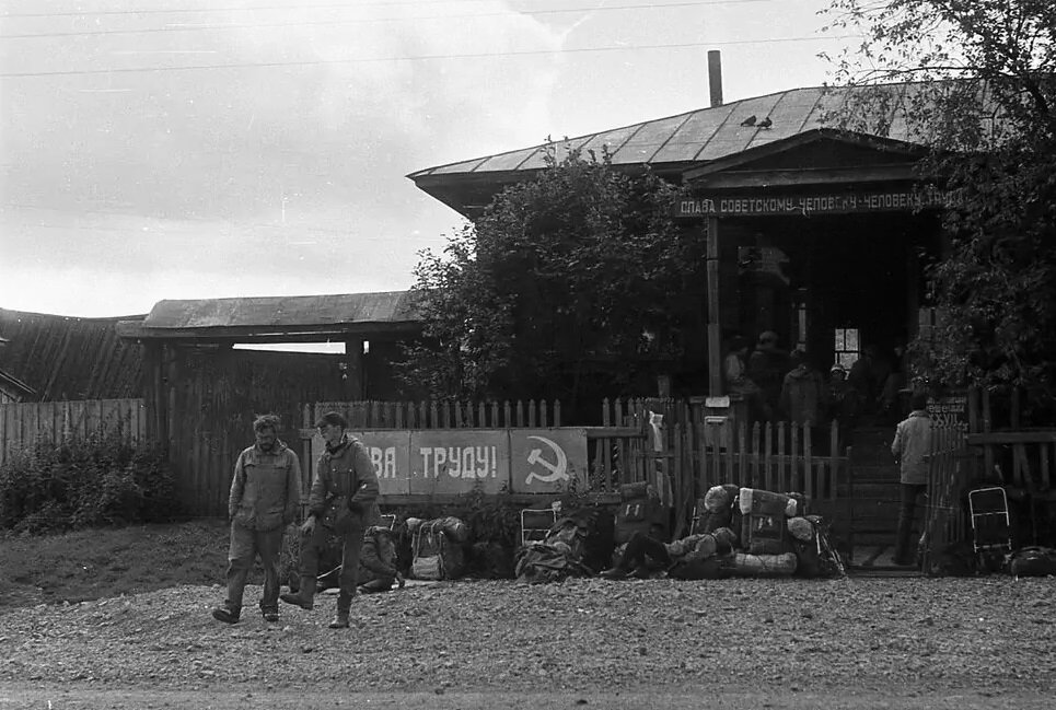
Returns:
[[[927,268],[942,313],[926,376],[1056,395],[1056,3],[834,0],[860,46],[833,58],[858,86],[833,116],[886,135],[894,115],[929,147],[921,189],[945,197],[948,254]],[[908,82],[892,91],[885,82]],[[871,89],[871,90],[870,90]]]

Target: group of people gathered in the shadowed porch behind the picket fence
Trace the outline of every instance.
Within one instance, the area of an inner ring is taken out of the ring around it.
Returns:
[[[892,364],[875,346],[866,346],[849,371],[835,362],[826,379],[812,353],[789,352],[776,333],[766,330],[754,346],[742,336],[732,337],[722,374],[727,392],[747,405],[750,423],[804,424],[812,430],[812,441],[824,446],[835,421],[840,445],[847,445],[862,415],[897,421],[900,392],[906,386],[905,347],[896,346],[894,354]]]

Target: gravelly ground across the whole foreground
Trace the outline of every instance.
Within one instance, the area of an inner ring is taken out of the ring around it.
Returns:
[[[9,708],[1026,708],[1056,694],[1056,580],[413,584],[278,624],[218,585],[0,612]]]

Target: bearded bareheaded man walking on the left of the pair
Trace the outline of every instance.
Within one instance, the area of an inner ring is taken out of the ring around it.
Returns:
[[[239,620],[246,575],[257,556],[264,567],[260,612],[268,621],[279,620],[279,549],[283,528],[297,520],[301,503],[301,464],[276,435],[280,426],[275,415],[257,417],[256,443],[239,454],[234,465],[228,496],[228,598],[212,610],[218,621]]]

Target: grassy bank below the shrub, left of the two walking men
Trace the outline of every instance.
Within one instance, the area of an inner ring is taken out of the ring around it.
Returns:
[[[0,537],[0,607],[222,584],[228,540],[220,520],[7,535]],[[254,570],[250,583],[262,580]]]

